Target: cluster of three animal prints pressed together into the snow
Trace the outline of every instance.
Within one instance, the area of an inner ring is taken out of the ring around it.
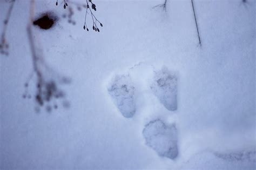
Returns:
[[[135,87],[133,81],[138,87]],[[150,84],[152,81],[153,83]],[[138,96],[142,99],[140,101],[145,100],[143,93],[152,93],[152,97],[156,96],[160,100],[158,105],[163,104],[169,111],[177,110],[177,77],[167,68],[154,71],[151,65],[139,63],[130,68],[129,74],[114,76],[107,91],[125,118],[131,118],[138,112],[137,100],[134,99],[135,93],[141,94]],[[166,124],[158,117],[144,126],[142,135],[145,144],[154,149],[159,156],[170,159],[177,158],[178,134],[175,123]]]

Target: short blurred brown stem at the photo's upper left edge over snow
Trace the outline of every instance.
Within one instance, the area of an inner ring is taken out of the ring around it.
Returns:
[[[15,0],[11,1],[10,3],[11,4],[9,6],[6,18],[4,19],[4,26],[3,26],[3,31],[1,35],[0,53],[2,53],[3,55],[8,55],[7,49],[9,48],[9,44],[6,42],[5,35],[8,28],[9,20],[11,17],[11,12],[12,12],[12,9],[14,8]]]

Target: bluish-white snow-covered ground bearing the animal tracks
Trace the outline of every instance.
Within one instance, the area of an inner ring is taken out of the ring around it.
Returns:
[[[191,1],[160,3],[95,0],[96,33],[85,11],[72,25],[62,6],[36,1],[36,16],[58,16],[33,28],[37,45],[72,79],[69,108],[37,113],[22,98],[29,1],[16,2],[0,56],[0,169],[255,169],[255,1],[194,0],[201,46]]]

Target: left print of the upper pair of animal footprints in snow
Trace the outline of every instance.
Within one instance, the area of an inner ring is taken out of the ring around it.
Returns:
[[[129,75],[116,76],[108,89],[119,111],[126,118],[133,117],[136,112],[134,104],[135,87]]]

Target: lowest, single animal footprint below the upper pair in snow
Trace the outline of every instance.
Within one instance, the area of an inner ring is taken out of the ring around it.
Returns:
[[[175,124],[168,126],[160,119],[150,121],[145,125],[143,136],[146,145],[154,149],[158,155],[170,159],[175,159],[178,156],[178,137]]]

